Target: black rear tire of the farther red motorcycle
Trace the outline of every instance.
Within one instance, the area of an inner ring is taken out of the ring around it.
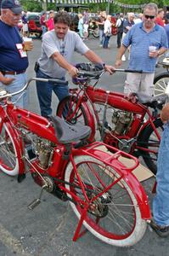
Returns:
[[[161,127],[161,130],[163,130],[163,123],[160,118],[155,120],[154,125],[155,125],[155,128]],[[147,127],[145,127],[144,132],[141,135],[141,137],[138,138],[138,141],[141,141],[143,143],[149,143],[149,137],[151,136],[151,134],[153,132],[154,132],[154,130],[153,130],[152,126],[148,125]],[[159,143],[159,145],[160,145],[160,143]],[[148,147],[145,147],[145,148],[148,148]],[[146,153],[144,151],[142,151],[142,153],[143,153],[143,159],[144,159],[146,166],[148,166],[148,168],[151,172],[156,174],[157,166],[155,165],[155,163],[152,160],[149,159],[149,153]]]

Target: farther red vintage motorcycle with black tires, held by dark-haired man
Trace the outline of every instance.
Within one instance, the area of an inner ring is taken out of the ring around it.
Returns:
[[[149,169],[156,173],[157,153],[163,130],[158,108],[162,102],[155,100],[146,104],[133,103],[122,93],[98,89],[95,85],[104,71],[87,72],[83,64],[85,63],[82,63],[83,68],[79,67],[79,77],[76,79],[79,90],[71,89],[70,96],[59,102],[57,115],[71,124],[81,122],[89,125],[92,129],[90,142],[93,142],[99,131],[104,143],[128,154],[142,156]],[[117,71],[132,72],[121,69]],[[93,85],[92,80],[95,81]]]

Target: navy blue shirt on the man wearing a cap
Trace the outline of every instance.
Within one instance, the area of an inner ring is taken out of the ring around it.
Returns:
[[[16,44],[22,44],[18,28],[0,20],[0,70],[22,71],[28,67],[28,58],[21,58]]]

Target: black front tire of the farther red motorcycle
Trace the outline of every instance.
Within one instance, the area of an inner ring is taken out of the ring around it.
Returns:
[[[68,102],[68,104],[69,104],[70,100],[73,103],[76,102],[76,96],[66,96],[63,100],[61,100],[59,102],[59,105],[58,105],[58,108],[57,108],[57,111],[56,111],[56,115],[58,115],[62,119],[64,118],[62,113],[63,113],[63,109],[64,109],[64,106],[65,106],[65,103]],[[84,122],[81,123],[81,124],[82,125],[88,125],[87,115],[85,113],[84,108],[82,107],[82,105],[80,105],[79,108],[80,108],[80,111],[82,112],[82,116],[83,116],[83,119],[84,119]],[[68,122],[71,123],[70,120]],[[72,125],[75,125],[75,123],[73,122]]]

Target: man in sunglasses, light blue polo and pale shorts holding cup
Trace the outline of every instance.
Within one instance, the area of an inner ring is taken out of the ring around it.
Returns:
[[[143,73],[127,73],[124,93],[137,93],[142,102],[147,102],[154,95],[154,75],[157,57],[166,52],[167,38],[163,27],[155,23],[158,8],[155,3],[144,7],[143,21],[132,26],[118,51],[115,67],[121,66],[121,57],[131,45],[128,68],[142,70]]]

